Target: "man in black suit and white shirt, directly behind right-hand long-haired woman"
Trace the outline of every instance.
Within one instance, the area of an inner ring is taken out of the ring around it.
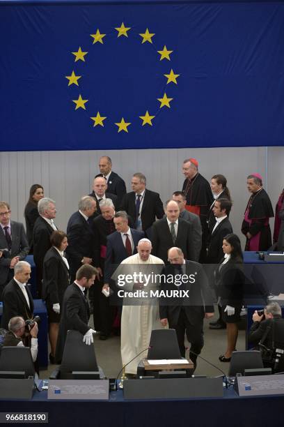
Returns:
[[[219,264],[224,256],[223,253],[223,238],[232,233],[232,225],[228,215],[232,208],[232,202],[228,199],[221,198],[214,202],[212,211],[216,222],[212,223],[209,230],[208,246],[207,246],[207,264]],[[216,266],[213,268],[213,270]],[[210,267],[211,269],[211,267]],[[212,274],[210,274],[212,277]],[[223,321],[221,315],[221,306],[218,306],[219,318],[214,322],[210,322],[210,329],[225,329],[226,322]]]

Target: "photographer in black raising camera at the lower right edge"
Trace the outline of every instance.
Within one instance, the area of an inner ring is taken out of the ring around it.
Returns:
[[[263,314],[255,310],[248,343],[252,343],[261,351],[265,366],[269,367],[274,363],[276,348],[284,349],[284,319],[281,317],[281,306],[278,303],[268,304]]]

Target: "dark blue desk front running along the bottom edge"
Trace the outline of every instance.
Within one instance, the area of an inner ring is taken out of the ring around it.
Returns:
[[[49,426],[92,427],[251,427],[283,426],[284,396],[240,398],[230,388],[223,398],[124,400],[122,391],[108,401],[47,400],[47,391],[30,401],[0,401],[1,412],[48,412]]]

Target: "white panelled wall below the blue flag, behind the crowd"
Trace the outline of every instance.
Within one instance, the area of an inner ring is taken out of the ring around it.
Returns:
[[[77,210],[79,198],[90,193],[102,155],[111,157],[113,171],[125,179],[128,191],[132,174],[142,172],[148,180],[147,187],[156,190],[163,202],[174,190],[182,188],[182,160],[197,158],[199,171],[205,178],[210,180],[219,173],[227,178],[234,202],[230,220],[239,237],[249,197],[246,176],[253,172],[262,174],[274,207],[284,187],[283,147],[0,152],[0,200],[10,202],[13,219],[24,222],[29,188],[40,183],[45,195],[56,200],[56,225],[65,230],[68,218]],[[272,230],[273,225],[271,220]]]

